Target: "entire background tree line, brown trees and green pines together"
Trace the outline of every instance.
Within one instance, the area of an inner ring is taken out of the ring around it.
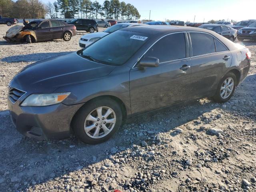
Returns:
[[[138,20],[140,14],[130,3],[119,0],[57,0],[43,4],[39,0],[0,0],[0,14],[13,18],[106,18]]]

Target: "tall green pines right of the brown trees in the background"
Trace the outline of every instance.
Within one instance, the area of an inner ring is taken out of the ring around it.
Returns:
[[[57,0],[48,2],[50,18],[106,18],[106,19],[139,19],[138,10],[130,3],[119,0],[105,0],[101,5],[97,0]]]

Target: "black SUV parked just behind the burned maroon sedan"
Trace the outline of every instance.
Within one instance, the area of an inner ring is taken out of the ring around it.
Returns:
[[[99,31],[98,24],[93,19],[74,19],[68,24],[73,24],[76,26],[76,30],[85,30],[86,32],[94,33],[94,31]]]

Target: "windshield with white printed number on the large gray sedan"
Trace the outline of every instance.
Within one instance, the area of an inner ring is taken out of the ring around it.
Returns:
[[[147,34],[118,30],[77,53],[94,62],[120,66],[128,61],[148,39]],[[106,49],[106,45],[111,46]]]

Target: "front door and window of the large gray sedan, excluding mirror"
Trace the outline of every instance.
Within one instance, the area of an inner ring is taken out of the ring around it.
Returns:
[[[130,70],[130,102],[134,115],[190,98],[191,60],[186,33],[160,38],[143,57],[156,57],[158,67]]]

